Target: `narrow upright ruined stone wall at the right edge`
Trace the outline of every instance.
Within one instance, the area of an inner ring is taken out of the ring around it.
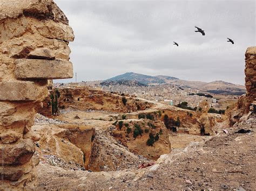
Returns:
[[[249,47],[246,50],[245,76],[246,108],[253,110],[256,105],[256,46]]]

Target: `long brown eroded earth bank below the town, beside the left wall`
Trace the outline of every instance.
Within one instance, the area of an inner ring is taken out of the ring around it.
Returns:
[[[114,112],[134,112],[152,107],[152,103],[140,101],[137,98],[119,96],[100,90],[85,88],[58,89],[58,108],[72,108],[77,110],[104,110]],[[43,102],[39,113],[44,116],[52,115],[52,100],[55,102],[56,90],[49,91],[49,96]]]

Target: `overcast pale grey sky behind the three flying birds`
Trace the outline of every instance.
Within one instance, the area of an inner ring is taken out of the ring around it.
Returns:
[[[255,46],[255,1],[55,2],[75,33],[69,46],[77,81],[134,72],[244,84],[244,54]],[[75,77],[58,80],[70,81]]]

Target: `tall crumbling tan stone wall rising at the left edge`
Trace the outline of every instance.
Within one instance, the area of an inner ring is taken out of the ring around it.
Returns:
[[[1,189],[33,188],[30,132],[47,91],[48,79],[73,76],[68,19],[52,0],[0,2]]]

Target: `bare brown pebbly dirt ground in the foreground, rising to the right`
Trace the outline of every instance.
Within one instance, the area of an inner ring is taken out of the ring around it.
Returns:
[[[255,190],[256,117],[206,142],[162,155],[156,165],[117,172],[64,170],[39,163],[38,190]],[[239,129],[250,133],[234,133]]]

